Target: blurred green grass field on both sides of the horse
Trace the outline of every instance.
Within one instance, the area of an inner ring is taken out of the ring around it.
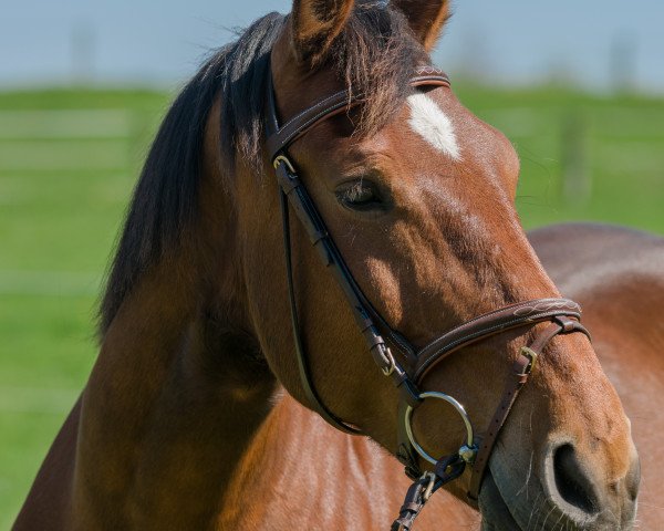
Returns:
[[[526,227],[583,219],[664,235],[664,100],[456,92],[517,147]],[[105,264],[169,98],[0,93],[0,529],[94,361]]]

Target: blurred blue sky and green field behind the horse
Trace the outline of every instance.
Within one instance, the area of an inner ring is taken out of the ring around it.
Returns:
[[[0,529],[96,355],[95,306],[168,103],[290,2],[23,0],[0,15]],[[664,4],[457,2],[435,62],[521,157],[527,228],[664,235]]]

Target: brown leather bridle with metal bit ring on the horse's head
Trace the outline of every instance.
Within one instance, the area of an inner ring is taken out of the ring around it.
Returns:
[[[411,79],[409,84],[413,87],[449,87],[449,79],[440,70],[422,66],[415,70],[415,75]],[[305,229],[320,259],[341,287],[374,362],[400,391],[396,457],[405,466],[406,475],[414,480],[414,483],[406,493],[400,517],[393,523],[392,530],[406,531],[411,529],[415,517],[430,494],[443,485],[458,478],[466,466],[473,467],[468,500],[477,507],[481,480],[491,450],[511,406],[532,371],[537,357],[558,334],[581,332],[588,337],[590,337],[590,334],[579,322],[581,308],[568,299],[537,299],[495,310],[446,332],[419,350],[411,345],[402,334],[385,322],[362,293],[332,240],[323,218],[300,180],[295,166],[288,156],[288,147],[309,129],[331,116],[347,112],[351,107],[360,104],[363,97],[362,94],[350,94],[347,91],[340,91],[305,108],[287,123],[279,125],[272,75],[270,69],[268,69],[267,149],[280,187],[279,196],[291,322],[304,395],[309,405],[332,426],[349,434],[361,434],[355,426],[335,416],[321,400],[313,386],[308,357],[300,336],[294,295],[289,205]],[[537,335],[529,346],[520,348],[518,358],[513,363],[513,375],[506,383],[500,404],[481,438],[475,437],[473,424],[464,407],[456,399],[440,392],[423,393],[419,391],[418,386],[425,374],[450,354],[507,330],[533,326],[543,322],[550,324]],[[466,440],[456,454],[436,459],[428,455],[416,441],[411,428],[412,415],[427,398],[445,400],[461,417],[466,428]],[[418,465],[418,457],[430,462],[434,470],[423,473]]]

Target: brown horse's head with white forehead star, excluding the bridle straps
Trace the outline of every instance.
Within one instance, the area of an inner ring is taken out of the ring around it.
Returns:
[[[560,298],[519,222],[519,159],[510,142],[445,83],[409,83],[430,64],[448,10],[447,1],[295,0],[269,58],[280,124],[333,94],[349,98],[289,140],[287,169],[297,173],[357,289],[415,350],[477,315]],[[398,454],[400,391],[366,354],[347,296],[299,222],[286,227],[287,271],[277,152],[259,147],[260,160],[237,157],[235,183],[238,274],[252,333],[288,392],[315,407],[294,355],[300,335],[325,410]],[[427,369],[418,387],[453,396],[486,438],[520,348],[544,329],[507,327],[464,345]],[[466,433],[443,402],[425,400],[412,415],[412,436],[432,456],[454,455]],[[469,481],[464,473],[446,488],[466,499]],[[627,529],[637,483],[630,423],[590,341],[557,335],[490,452],[479,494],[486,529]]]

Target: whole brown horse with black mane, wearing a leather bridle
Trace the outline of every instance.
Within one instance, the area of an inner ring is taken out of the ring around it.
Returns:
[[[598,353],[635,391],[662,299],[636,304],[630,269],[602,296],[611,231],[533,235],[595,352],[520,226],[511,144],[430,66],[448,17],[294,0],[190,80],[14,530],[406,530],[425,502],[417,529],[632,529],[640,461]]]

